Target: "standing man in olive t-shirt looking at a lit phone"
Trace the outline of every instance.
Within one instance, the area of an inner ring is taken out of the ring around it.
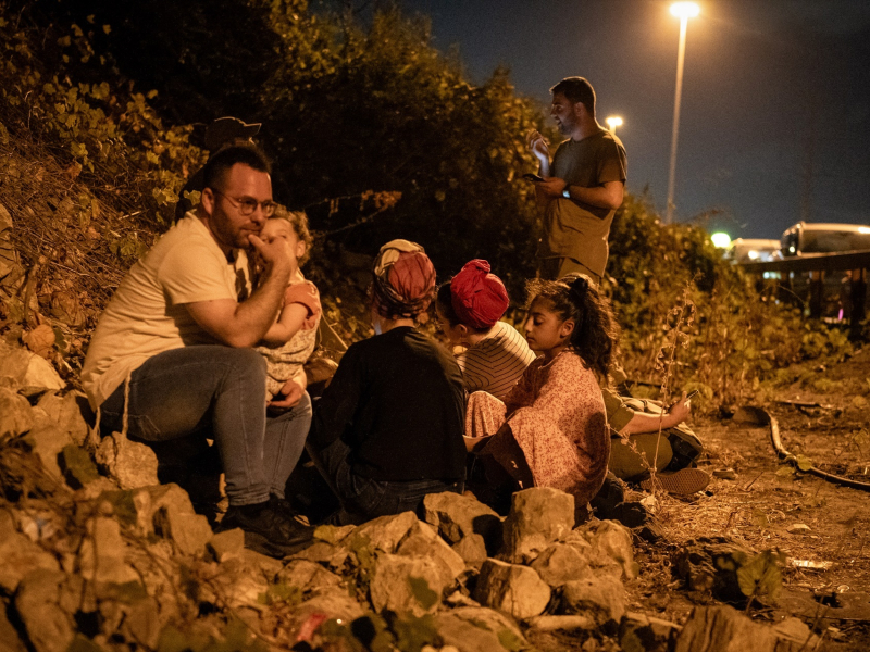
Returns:
[[[566,77],[550,93],[550,115],[569,138],[550,162],[544,137],[538,131],[529,135],[544,177],[536,184],[544,210],[538,276],[555,280],[581,272],[600,281],[610,223],[625,190],[625,148],[595,120],[595,90],[585,78]]]

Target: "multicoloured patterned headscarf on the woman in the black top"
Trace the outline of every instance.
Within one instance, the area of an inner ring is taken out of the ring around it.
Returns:
[[[435,267],[417,242],[390,240],[384,244],[372,274],[373,305],[382,317],[411,318],[432,303]]]

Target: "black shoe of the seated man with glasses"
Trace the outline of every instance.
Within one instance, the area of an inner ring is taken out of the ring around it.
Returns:
[[[282,559],[300,551],[311,542],[314,528],[297,523],[276,511],[271,501],[256,514],[253,505],[231,505],[216,531],[236,527],[245,530],[245,547]]]

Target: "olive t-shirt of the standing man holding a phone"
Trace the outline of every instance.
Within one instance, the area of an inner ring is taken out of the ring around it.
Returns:
[[[583,140],[569,138],[556,150],[550,174],[569,186],[595,188],[608,181],[625,183],[627,162],[622,141],[607,130]],[[537,256],[571,258],[599,278],[609,248],[607,237],[616,210],[574,199],[550,200],[544,215],[544,237]]]

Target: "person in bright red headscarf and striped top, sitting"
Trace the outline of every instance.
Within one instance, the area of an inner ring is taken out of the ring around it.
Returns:
[[[473,260],[438,288],[435,311],[444,336],[456,347],[465,389],[504,399],[535,359],[525,338],[499,319],[510,300],[489,263]]]

